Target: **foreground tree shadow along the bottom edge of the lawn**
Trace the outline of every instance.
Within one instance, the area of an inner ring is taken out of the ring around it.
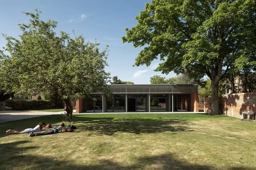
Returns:
[[[172,153],[164,153],[159,155],[149,155],[142,157],[133,157],[129,162],[130,164],[125,164],[124,161],[118,161],[112,159],[100,159],[100,157],[94,158],[92,163],[74,163],[76,159],[72,158],[70,154],[61,153],[61,155],[56,154],[56,156],[45,156],[44,154],[37,156],[33,154],[35,152],[35,147],[20,147],[18,145],[29,143],[29,141],[18,141],[10,142],[5,144],[0,144],[1,160],[0,169],[192,169],[192,170],[210,170],[218,169],[219,167],[191,164],[186,159],[179,160],[176,155]],[[68,151],[67,151],[68,152]],[[82,154],[82,153],[81,153]],[[65,160],[60,160],[63,155],[69,155],[70,157]],[[89,155],[88,155],[89,157]],[[119,158],[120,159],[120,158]],[[77,162],[77,160],[76,160]],[[120,163],[122,162],[122,163]],[[202,163],[203,164],[203,163]],[[229,167],[228,170],[252,170],[251,167]]]

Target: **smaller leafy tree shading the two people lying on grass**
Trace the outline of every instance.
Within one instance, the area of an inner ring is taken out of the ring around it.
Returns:
[[[57,36],[57,22],[40,20],[39,13],[25,12],[31,19],[28,25],[20,25],[20,39],[4,35],[10,56],[1,55],[3,87],[18,93],[57,95],[72,121],[71,101],[92,93],[109,94],[110,74],[104,70],[108,51],[100,52],[99,44],[85,42],[83,36],[71,38],[63,31]]]

